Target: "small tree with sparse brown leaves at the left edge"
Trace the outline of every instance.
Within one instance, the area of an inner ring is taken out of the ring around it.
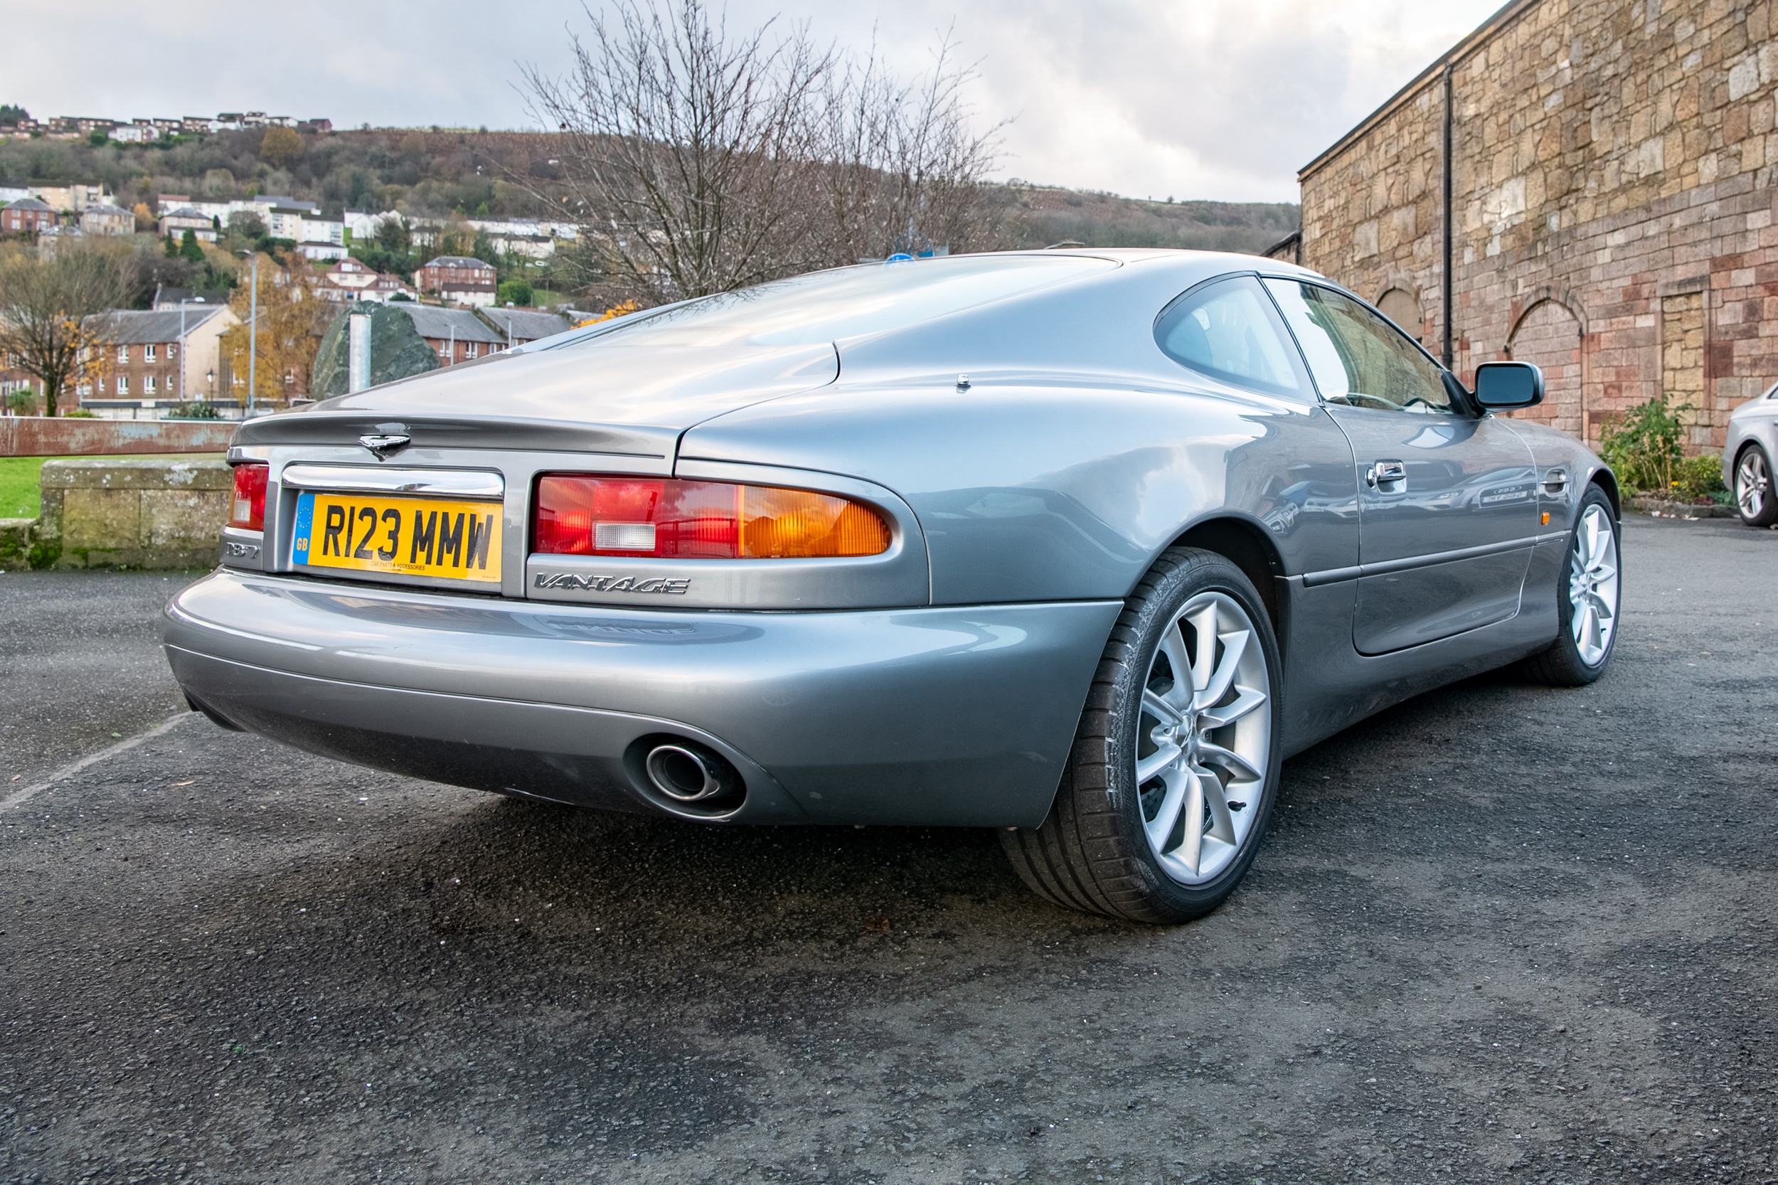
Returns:
[[[123,262],[92,247],[53,258],[0,254],[0,356],[43,383],[43,413],[53,416],[71,386],[105,365],[105,318],[130,292]]]

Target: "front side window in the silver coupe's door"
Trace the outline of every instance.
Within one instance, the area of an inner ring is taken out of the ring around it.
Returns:
[[[1453,411],[1438,363],[1364,304],[1294,279],[1266,288],[1303,347],[1321,399],[1383,411]]]

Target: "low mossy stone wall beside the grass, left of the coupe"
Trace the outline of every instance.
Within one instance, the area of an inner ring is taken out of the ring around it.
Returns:
[[[233,477],[220,457],[44,461],[32,568],[210,568]]]

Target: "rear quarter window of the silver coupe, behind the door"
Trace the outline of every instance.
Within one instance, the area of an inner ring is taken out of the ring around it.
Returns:
[[[1181,367],[1236,386],[1314,399],[1271,301],[1252,276],[1197,288],[1168,304],[1154,340]]]

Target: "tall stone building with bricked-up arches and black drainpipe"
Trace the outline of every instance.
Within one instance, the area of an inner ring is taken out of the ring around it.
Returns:
[[[1719,447],[1778,379],[1774,21],[1769,0],[1508,4],[1303,167],[1293,249],[1465,379],[1543,367],[1520,415],[1597,441],[1670,393],[1693,450]]]

